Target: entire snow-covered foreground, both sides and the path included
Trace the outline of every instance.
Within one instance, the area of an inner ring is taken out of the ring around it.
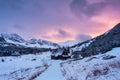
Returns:
[[[50,52],[0,57],[0,80],[120,80],[120,48],[82,60],[51,60]]]

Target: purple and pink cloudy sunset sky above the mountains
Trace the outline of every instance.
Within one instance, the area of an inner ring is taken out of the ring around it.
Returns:
[[[0,0],[0,33],[84,41],[120,22],[120,0]]]

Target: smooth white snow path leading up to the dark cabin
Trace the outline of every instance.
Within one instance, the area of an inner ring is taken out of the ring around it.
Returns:
[[[51,66],[35,80],[65,80],[60,70],[62,61],[52,60]]]

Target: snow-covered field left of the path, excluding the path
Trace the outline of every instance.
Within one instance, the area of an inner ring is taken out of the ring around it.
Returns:
[[[18,57],[0,57],[0,80],[29,80],[45,71],[50,53],[23,55]]]

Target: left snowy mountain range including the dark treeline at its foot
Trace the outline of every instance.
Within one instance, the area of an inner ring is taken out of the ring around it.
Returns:
[[[17,34],[0,34],[0,56],[36,54],[59,48],[59,45],[46,40],[24,40]]]

